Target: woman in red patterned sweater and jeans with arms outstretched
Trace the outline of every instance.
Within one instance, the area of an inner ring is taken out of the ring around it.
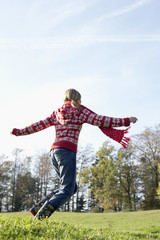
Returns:
[[[98,126],[104,134],[126,148],[130,140],[124,136],[128,132],[127,129],[118,130],[114,127],[129,126],[136,121],[136,117],[113,118],[98,115],[81,105],[81,95],[78,91],[68,89],[64,95],[64,104],[51,116],[23,129],[14,128],[11,134],[22,136],[55,126],[56,136],[51,146],[51,159],[61,184],[59,190],[50,193],[31,208],[30,212],[35,218],[50,217],[76,193],[76,153],[79,134],[84,123]]]

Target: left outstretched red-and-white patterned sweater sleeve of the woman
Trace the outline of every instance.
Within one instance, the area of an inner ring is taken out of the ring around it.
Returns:
[[[32,133],[36,133],[41,130],[44,130],[55,124],[56,124],[56,118],[55,118],[55,113],[53,112],[53,114],[50,117],[47,117],[44,120],[40,120],[39,122],[33,123],[30,126],[27,126],[22,129],[13,128],[12,134],[15,136],[28,135],[28,134],[32,134]]]

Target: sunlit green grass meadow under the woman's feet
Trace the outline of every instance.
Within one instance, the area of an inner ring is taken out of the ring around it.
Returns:
[[[38,221],[28,212],[1,213],[0,239],[160,239],[160,210],[120,213],[55,212]]]

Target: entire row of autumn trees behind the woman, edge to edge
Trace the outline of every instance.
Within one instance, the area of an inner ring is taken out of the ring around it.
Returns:
[[[78,191],[62,211],[148,210],[160,207],[160,124],[132,137],[126,150],[109,141],[95,154],[77,154]],[[15,149],[0,156],[0,212],[28,211],[59,187],[50,153],[25,156]]]

